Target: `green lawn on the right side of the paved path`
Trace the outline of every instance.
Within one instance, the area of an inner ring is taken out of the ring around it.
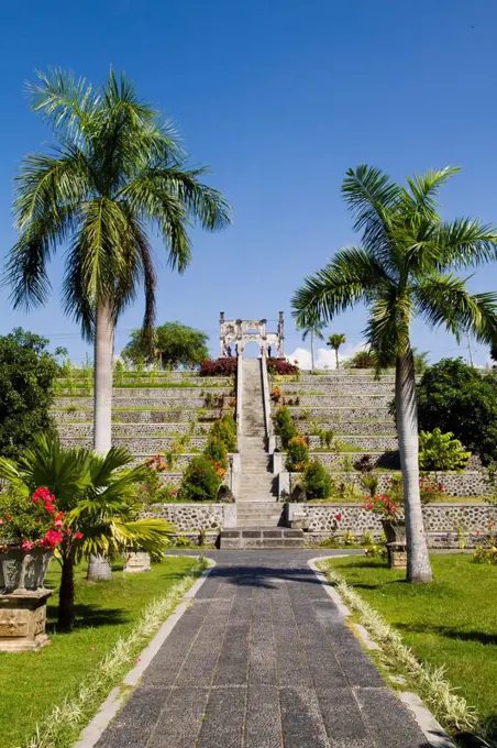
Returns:
[[[464,553],[433,554],[431,561],[435,581],[417,586],[378,559],[332,563],[419,660],[445,666],[446,679],[479,717],[497,723],[497,566]]]

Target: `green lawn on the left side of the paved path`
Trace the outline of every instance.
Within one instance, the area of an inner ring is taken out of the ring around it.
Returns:
[[[55,630],[57,593],[48,600],[52,645],[40,652],[0,654],[0,735],[2,748],[16,748],[30,737],[40,719],[64,696],[75,694],[78,684],[121,636],[126,635],[154,598],[195,564],[194,559],[167,558],[151,572],[122,574],[113,568],[111,582],[88,583],[86,564],[77,570],[77,626],[71,634]],[[60,578],[52,561],[45,583],[58,588]],[[96,704],[96,707],[98,704]]]

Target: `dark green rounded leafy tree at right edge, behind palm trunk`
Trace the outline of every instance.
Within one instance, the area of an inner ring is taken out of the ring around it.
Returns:
[[[497,460],[497,375],[442,359],[417,387],[420,428],[451,431],[484,464]]]

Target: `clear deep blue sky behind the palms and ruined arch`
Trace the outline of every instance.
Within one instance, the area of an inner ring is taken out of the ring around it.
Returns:
[[[22,156],[49,133],[29,111],[23,81],[47,65],[100,81],[112,65],[178,123],[195,163],[233,206],[221,234],[194,232],[194,262],[180,277],[163,263],[158,319],[209,331],[219,311],[287,317],[287,351],[299,343],[289,299],[305,275],[352,243],[340,197],[345,169],[366,162],[393,177],[463,167],[443,193],[446,217],[497,222],[497,4],[492,0],[85,0],[3,3],[0,118],[0,253],[15,240],[12,179]],[[164,256],[154,240],[157,256]],[[0,333],[22,326],[66,345],[87,346],[62,314],[60,252],[44,309],[13,312],[0,290]],[[474,276],[495,289],[497,265]],[[142,299],[121,318],[117,350],[137,327]],[[365,312],[330,332],[361,343]],[[454,339],[413,326],[432,360],[456,355]],[[478,363],[485,348],[475,345]],[[465,351],[463,352],[465,353]]]

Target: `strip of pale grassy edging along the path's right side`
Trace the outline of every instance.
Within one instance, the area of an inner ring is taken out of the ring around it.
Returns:
[[[454,693],[444,678],[444,669],[420,662],[404,642],[400,634],[369,605],[332,566],[332,561],[320,561],[318,568],[336,590],[358,623],[379,646],[377,656],[387,670],[404,674],[416,689],[441,725],[451,733],[474,732],[477,728],[476,711],[463,696]],[[485,744],[484,744],[485,745]]]

